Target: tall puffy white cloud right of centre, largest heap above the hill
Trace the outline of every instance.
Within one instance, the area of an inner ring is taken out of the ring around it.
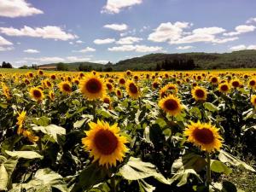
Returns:
[[[188,22],[161,23],[154,32],[149,34],[148,40],[154,42],[174,41],[182,37],[183,29],[191,26]]]

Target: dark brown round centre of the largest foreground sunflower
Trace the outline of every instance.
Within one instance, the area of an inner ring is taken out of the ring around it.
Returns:
[[[100,130],[94,137],[94,143],[96,148],[105,155],[112,154],[118,146],[117,137],[113,135],[113,132],[108,130]]]

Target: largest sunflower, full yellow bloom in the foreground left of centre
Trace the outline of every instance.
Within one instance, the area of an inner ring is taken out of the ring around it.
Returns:
[[[120,136],[117,124],[109,125],[107,122],[98,120],[90,122],[90,131],[85,131],[86,137],[82,139],[84,149],[90,151],[93,162],[99,161],[100,166],[116,166],[117,161],[123,161],[128,152],[125,143],[126,137]]]

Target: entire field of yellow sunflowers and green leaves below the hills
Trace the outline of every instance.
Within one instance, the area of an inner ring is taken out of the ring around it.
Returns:
[[[0,72],[0,191],[253,192],[255,112],[250,71]]]

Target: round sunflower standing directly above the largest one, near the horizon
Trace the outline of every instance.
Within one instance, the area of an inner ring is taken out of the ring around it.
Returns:
[[[106,85],[96,75],[90,75],[79,83],[81,93],[89,100],[102,98],[106,94]]]

